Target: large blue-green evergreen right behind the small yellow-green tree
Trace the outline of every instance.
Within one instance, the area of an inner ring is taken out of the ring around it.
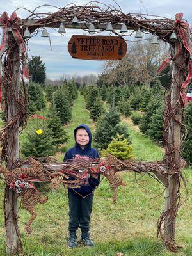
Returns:
[[[116,134],[124,134],[128,138],[127,125],[120,124],[120,113],[114,107],[100,118],[93,136],[95,147],[98,150],[106,149],[109,143],[116,138]]]

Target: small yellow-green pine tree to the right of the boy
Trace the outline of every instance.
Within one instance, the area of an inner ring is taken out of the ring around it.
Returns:
[[[102,156],[106,157],[108,154],[116,156],[118,159],[132,159],[133,155],[133,146],[130,145],[129,140],[124,138],[124,134],[116,135],[116,138],[113,138],[111,143],[109,143],[108,148],[102,150]]]

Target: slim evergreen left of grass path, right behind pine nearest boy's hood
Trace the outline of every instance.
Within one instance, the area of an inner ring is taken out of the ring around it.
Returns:
[[[63,90],[58,90],[54,93],[53,104],[56,106],[57,115],[60,117],[61,123],[63,125],[67,124],[72,118],[72,109]]]

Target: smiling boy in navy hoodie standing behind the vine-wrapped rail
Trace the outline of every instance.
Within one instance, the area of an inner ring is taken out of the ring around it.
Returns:
[[[65,153],[64,161],[68,159],[99,158],[95,148],[92,148],[92,133],[90,128],[81,124],[74,130],[76,145]],[[74,180],[70,177],[68,180]],[[100,175],[92,175],[82,181],[80,188],[68,188],[69,223],[68,247],[77,246],[77,228],[81,228],[81,241],[86,246],[93,246],[90,238],[90,215],[93,205],[93,191],[99,185]]]

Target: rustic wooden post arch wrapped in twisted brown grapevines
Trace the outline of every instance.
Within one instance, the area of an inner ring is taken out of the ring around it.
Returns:
[[[41,7],[41,6],[40,6]],[[172,81],[170,81],[170,95],[165,99],[166,111],[164,115],[165,155],[161,163],[120,163],[134,172],[154,172],[164,186],[166,186],[165,209],[158,222],[158,232],[170,250],[175,250],[175,218],[180,206],[180,182],[184,161],[180,156],[180,147],[184,136],[183,112],[186,105],[185,92],[191,81],[191,34],[188,23],[182,19],[182,13],[175,15],[175,20],[164,17],[141,15],[138,13],[124,13],[120,6],[107,6],[99,1],[89,2],[85,6],[69,4],[64,8],[56,8],[53,13],[41,13],[40,7],[29,11],[26,19],[20,20],[14,12],[8,17],[4,12],[1,15],[3,40],[0,53],[3,65],[1,83],[4,88],[4,109],[6,112],[6,125],[1,131],[2,155],[8,170],[20,167],[19,161],[19,129],[26,126],[28,96],[24,84],[24,76],[28,77],[27,41],[23,35],[26,28],[32,35],[36,35],[42,28],[58,28],[61,21],[65,28],[74,28],[71,24],[74,14],[79,20],[78,29],[88,30],[93,22],[97,31],[104,31],[106,24],[113,24],[113,33],[118,34],[121,24],[126,24],[130,33],[141,29],[143,33],[152,33],[160,40],[170,44],[170,57],[167,58],[159,71],[168,63],[172,63]],[[55,8],[55,6],[49,6]],[[17,12],[17,10],[16,10]],[[170,42],[172,32],[177,35],[177,42]],[[22,90],[20,88],[22,79]],[[124,169],[122,168],[122,170]],[[120,171],[120,170],[118,170]],[[20,252],[19,228],[17,226],[17,193],[6,186],[6,247],[7,253]],[[162,227],[164,225],[164,234]]]

